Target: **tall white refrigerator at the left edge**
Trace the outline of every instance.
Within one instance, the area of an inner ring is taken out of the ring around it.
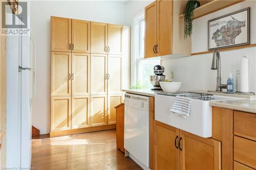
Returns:
[[[29,19],[29,18],[28,18]],[[35,93],[35,43],[29,36],[7,36],[6,166],[31,166],[31,101]]]

